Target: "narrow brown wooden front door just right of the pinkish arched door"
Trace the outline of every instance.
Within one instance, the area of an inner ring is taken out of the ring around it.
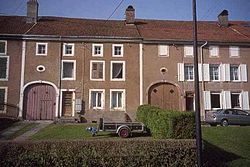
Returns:
[[[62,93],[62,116],[72,116],[73,92],[65,91]]]

